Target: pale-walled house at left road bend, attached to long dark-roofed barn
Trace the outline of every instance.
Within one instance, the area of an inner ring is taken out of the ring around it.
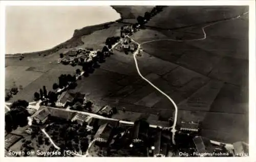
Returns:
[[[36,111],[31,116],[31,119],[32,119],[33,123],[44,124],[47,121],[49,115],[51,114],[47,107],[45,107],[45,106],[44,107],[41,106],[41,107],[42,107],[41,109]]]

